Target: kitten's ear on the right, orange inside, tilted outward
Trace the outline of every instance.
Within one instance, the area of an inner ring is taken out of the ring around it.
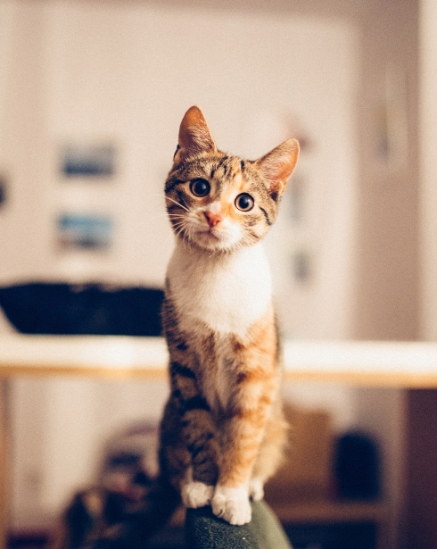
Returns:
[[[268,181],[268,190],[275,199],[282,195],[299,158],[299,141],[287,139],[273,151],[261,156],[255,165]]]

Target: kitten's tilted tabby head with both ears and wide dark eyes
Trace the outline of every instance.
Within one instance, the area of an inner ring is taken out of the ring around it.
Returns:
[[[231,252],[264,237],[299,156],[288,139],[256,161],[222,153],[202,111],[191,107],[179,129],[165,184],[169,220],[177,237],[210,252]]]

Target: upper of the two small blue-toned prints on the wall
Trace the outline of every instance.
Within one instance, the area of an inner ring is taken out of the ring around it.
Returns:
[[[68,178],[109,178],[115,172],[115,146],[68,145],[62,149],[61,171]]]

